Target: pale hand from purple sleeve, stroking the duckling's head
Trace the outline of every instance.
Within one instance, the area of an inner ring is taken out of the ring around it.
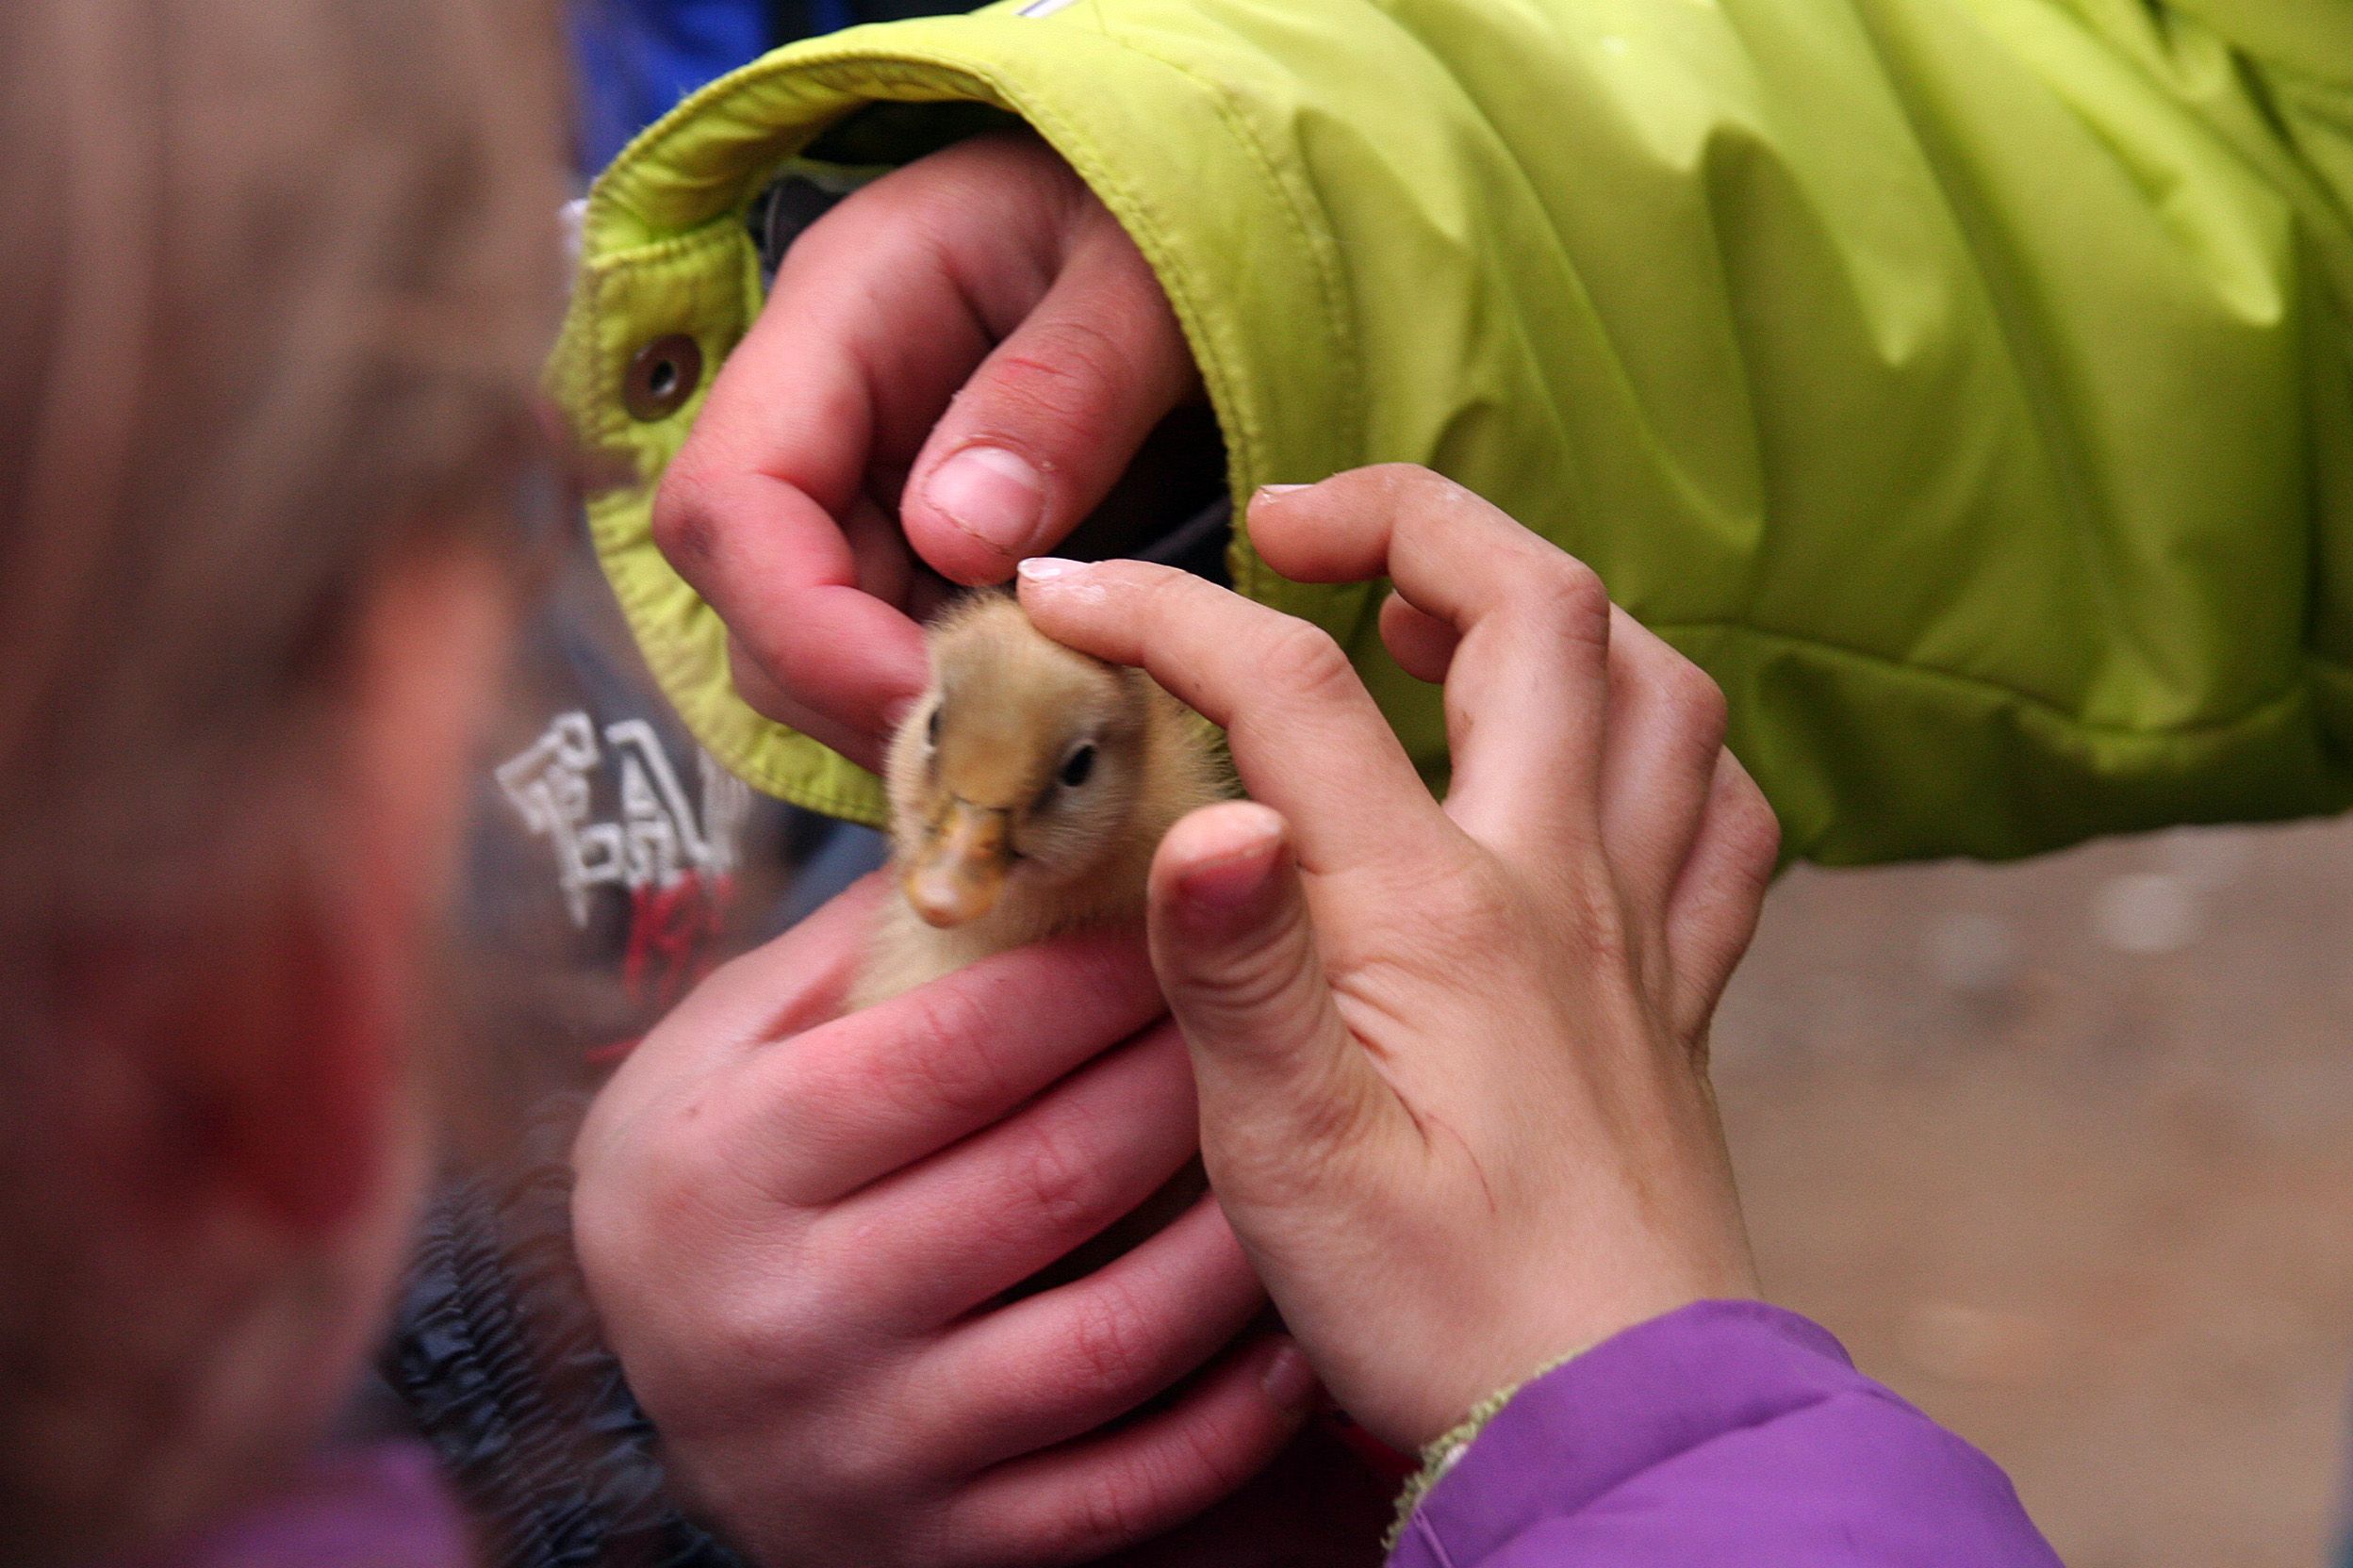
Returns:
[[[1414,1446],[1753,1293],[1706,1032],[1777,830],[1715,686],[1468,491],[1358,470],[1259,496],[1249,529],[1292,578],[1395,578],[1388,646],[1447,686],[1445,809],[1299,621],[1134,562],[1026,567],[1021,602],[1233,738],[1257,804],[1153,863],[1202,1154],[1332,1394]]]

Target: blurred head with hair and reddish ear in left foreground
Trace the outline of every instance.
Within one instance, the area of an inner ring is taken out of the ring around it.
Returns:
[[[231,1502],[384,1309],[553,99],[518,0],[0,5],[5,1561]]]

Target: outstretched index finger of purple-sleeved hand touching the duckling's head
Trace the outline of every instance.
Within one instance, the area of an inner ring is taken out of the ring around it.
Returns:
[[[1242,785],[1289,820],[1313,875],[1395,865],[1445,827],[1348,656],[1306,621],[1144,562],[1024,562],[1021,607],[1047,637],[1144,665],[1221,724]]]

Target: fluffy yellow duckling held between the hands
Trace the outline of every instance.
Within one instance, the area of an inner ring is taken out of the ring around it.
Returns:
[[[885,766],[896,896],[852,1006],[1141,914],[1160,837],[1233,792],[1191,708],[1049,639],[1009,595],[958,599],[925,639],[932,684]]]

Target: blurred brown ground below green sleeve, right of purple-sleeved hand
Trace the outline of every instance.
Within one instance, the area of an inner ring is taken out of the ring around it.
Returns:
[[[2334,1561],[2353,820],[1798,870],[1715,1063],[1767,1291],[2071,1568]]]

